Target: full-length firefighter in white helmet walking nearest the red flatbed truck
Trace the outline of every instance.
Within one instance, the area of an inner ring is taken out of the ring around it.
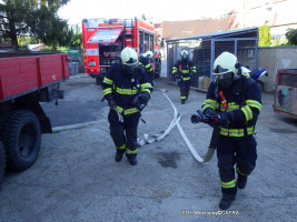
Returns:
[[[125,48],[121,63],[115,63],[103,79],[103,94],[110,111],[110,135],[117,149],[116,161],[126,153],[131,165],[137,164],[137,128],[140,112],[150,99],[152,85],[146,70],[138,64],[132,48]]]

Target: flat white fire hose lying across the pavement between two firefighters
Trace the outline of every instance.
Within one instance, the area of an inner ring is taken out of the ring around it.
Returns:
[[[217,147],[217,139],[219,135],[219,128],[214,128],[212,131],[212,135],[211,135],[211,141],[210,144],[208,147],[208,151],[206,153],[206,157],[202,159],[195,150],[195,148],[192,147],[191,142],[189,141],[189,139],[187,138],[187,135],[185,134],[181,125],[179,124],[179,120],[181,118],[181,114],[177,111],[175,104],[171,102],[171,100],[168,98],[168,95],[165,93],[166,90],[161,90],[162,94],[165,95],[165,98],[168,100],[168,102],[171,104],[172,109],[174,109],[174,119],[171,120],[169,127],[167,128],[166,131],[164,131],[162,133],[159,134],[143,134],[142,139],[137,139],[138,145],[145,145],[145,144],[150,144],[154,141],[158,142],[161,139],[164,139],[166,135],[169,134],[169,132],[174,129],[175,125],[177,125],[182,139],[185,140],[187,147],[189,148],[192,157],[198,161],[198,162],[207,162],[209,160],[211,160],[215,151],[216,151],[216,147]]]

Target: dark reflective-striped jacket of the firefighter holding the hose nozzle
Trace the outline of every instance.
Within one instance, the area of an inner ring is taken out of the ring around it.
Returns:
[[[221,99],[220,93],[225,95]],[[221,128],[220,134],[228,138],[242,138],[256,133],[256,121],[261,110],[261,94],[257,82],[241,75],[230,89],[217,89],[210,83],[202,110],[211,108],[221,112],[232,112],[228,128]]]

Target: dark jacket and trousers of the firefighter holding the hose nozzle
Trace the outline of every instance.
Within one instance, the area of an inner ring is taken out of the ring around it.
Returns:
[[[261,110],[259,87],[245,77],[236,80],[229,89],[210,83],[202,110],[209,108],[229,117],[228,125],[220,129],[217,157],[222,194],[236,195],[236,172],[247,176],[256,167],[257,142],[254,134]]]

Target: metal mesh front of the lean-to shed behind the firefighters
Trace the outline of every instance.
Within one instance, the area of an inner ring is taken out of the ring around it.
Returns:
[[[241,65],[250,70],[258,68],[258,38],[221,38],[176,40],[167,44],[167,77],[172,81],[172,67],[180,59],[179,52],[187,50],[196,65],[197,73],[191,78],[191,85],[206,91],[212,80],[215,59],[224,51],[234,53]]]

